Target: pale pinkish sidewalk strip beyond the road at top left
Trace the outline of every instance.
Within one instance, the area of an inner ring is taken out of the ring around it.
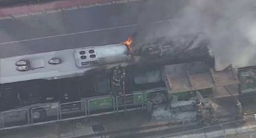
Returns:
[[[0,19],[30,16],[36,14],[55,13],[59,11],[77,10],[101,5],[120,4],[141,0],[64,0],[46,4],[25,5],[0,9]]]

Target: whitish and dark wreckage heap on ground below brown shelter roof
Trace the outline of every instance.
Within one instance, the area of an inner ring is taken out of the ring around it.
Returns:
[[[218,114],[227,113],[222,106],[211,100],[204,99],[200,92],[189,101],[172,101],[169,105],[155,105],[152,120],[168,121],[173,124],[189,124],[198,122],[200,125],[211,125],[217,121]]]

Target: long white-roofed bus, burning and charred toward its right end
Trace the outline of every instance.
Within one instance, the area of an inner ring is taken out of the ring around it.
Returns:
[[[0,59],[2,124],[120,110],[123,104],[133,108],[146,98],[160,104],[168,100],[165,65],[202,61],[214,67],[210,43],[201,35],[160,40],[131,45],[129,38],[120,44]],[[112,68],[118,65],[125,67],[125,100],[123,92],[112,92]]]

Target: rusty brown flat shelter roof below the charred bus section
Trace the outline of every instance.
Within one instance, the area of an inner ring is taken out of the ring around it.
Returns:
[[[172,94],[240,83],[234,68],[231,66],[222,71],[213,71],[209,68],[206,73],[189,74],[187,71],[184,76],[166,75],[166,84]]]

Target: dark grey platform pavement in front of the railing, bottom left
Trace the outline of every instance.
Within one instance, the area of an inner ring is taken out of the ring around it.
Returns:
[[[102,125],[105,129],[105,134],[108,137],[123,137],[130,136],[133,133],[148,133],[161,127],[166,129],[180,128],[182,131],[186,127],[184,124],[179,124],[173,121],[158,121],[152,119],[145,110],[133,110],[128,112],[119,112],[115,114],[90,116],[89,118],[74,119],[51,124],[35,125],[25,128],[17,128],[12,130],[0,131],[1,138],[21,138],[21,137],[97,137],[99,132],[93,131],[93,125]],[[155,126],[158,126],[155,128]],[[167,126],[166,126],[167,125]],[[188,124],[187,126],[195,124]],[[192,128],[192,127],[190,127]],[[145,130],[145,131],[144,131]]]

